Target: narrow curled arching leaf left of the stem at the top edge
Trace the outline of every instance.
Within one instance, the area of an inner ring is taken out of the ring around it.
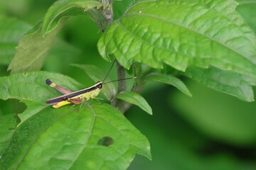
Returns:
[[[77,16],[91,8],[107,8],[108,4],[102,4],[95,0],[60,0],[56,1],[48,9],[43,21],[43,35],[55,30],[60,19],[68,16]]]

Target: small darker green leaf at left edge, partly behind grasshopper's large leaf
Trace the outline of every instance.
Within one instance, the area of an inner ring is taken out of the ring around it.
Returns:
[[[4,149],[11,142],[11,137],[14,134],[14,130],[18,125],[18,117],[16,114],[6,114],[0,116],[0,157],[4,152]]]

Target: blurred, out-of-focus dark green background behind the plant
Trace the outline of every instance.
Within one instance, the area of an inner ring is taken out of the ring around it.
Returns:
[[[53,2],[0,0],[0,16],[22,21],[31,28]],[[117,3],[128,4],[127,1]],[[250,4],[241,1],[237,9],[255,30],[256,1]],[[0,27],[4,24],[0,23]],[[107,71],[110,63],[102,60],[97,52],[101,35],[96,24],[86,16],[70,18],[43,70],[66,74],[90,86],[94,82],[70,63],[95,64]],[[16,39],[20,38],[21,35]],[[7,67],[7,64],[0,65],[0,76],[9,74]],[[116,79],[115,70],[110,79]],[[256,103],[239,101],[190,79],[181,79],[191,90],[192,98],[172,86],[149,83],[142,96],[151,105],[154,115],[136,106],[125,114],[149,138],[152,154],[152,161],[137,155],[129,169],[256,169]],[[20,113],[24,108],[15,100],[0,101],[0,115]]]

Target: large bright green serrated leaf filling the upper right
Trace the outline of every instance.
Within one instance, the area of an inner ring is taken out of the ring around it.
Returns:
[[[102,57],[122,66],[143,62],[161,68],[210,65],[256,82],[255,33],[235,11],[233,0],[137,1],[98,42]]]

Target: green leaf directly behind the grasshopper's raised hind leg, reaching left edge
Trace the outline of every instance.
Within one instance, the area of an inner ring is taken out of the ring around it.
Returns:
[[[0,98],[7,100],[33,101],[46,106],[46,100],[60,93],[46,84],[51,79],[56,84],[71,91],[84,88],[82,84],[63,74],[50,72],[30,72],[28,74],[13,74],[9,77],[0,77]]]

